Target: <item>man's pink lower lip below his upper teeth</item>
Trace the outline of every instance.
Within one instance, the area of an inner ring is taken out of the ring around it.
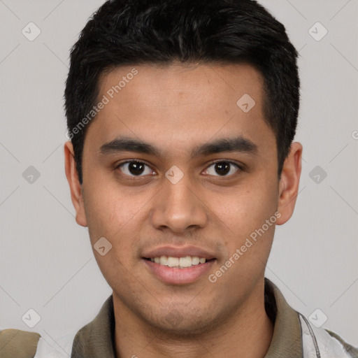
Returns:
[[[197,264],[186,268],[164,266],[147,259],[142,259],[142,261],[150,269],[150,272],[154,273],[159,280],[172,285],[185,285],[187,283],[192,283],[201,278],[201,276],[207,274],[216,260],[213,259],[204,264]]]

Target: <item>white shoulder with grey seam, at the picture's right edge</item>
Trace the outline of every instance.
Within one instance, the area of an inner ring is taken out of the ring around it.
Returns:
[[[331,331],[317,328],[299,314],[302,329],[303,357],[358,358],[358,348]]]

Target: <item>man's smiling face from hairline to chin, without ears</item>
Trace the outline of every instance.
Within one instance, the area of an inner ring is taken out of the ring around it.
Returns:
[[[275,227],[264,224],[279,199],[262,91],[262,77],[243,64],[126,66],[101,78],[98,99],[109,102],[85,136],[76,220],[92,245],[112,245],[94,255],[123,315],[192,334],[259,300]],[[162,256],[174,259],[151,260]],[[206,262],[165,265],[177,257]]]

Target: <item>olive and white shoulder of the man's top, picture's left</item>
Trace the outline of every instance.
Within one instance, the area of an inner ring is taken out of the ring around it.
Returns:
[[[77,331],[56,340],[36,332],[0,329],[1,358],[69,358]]]

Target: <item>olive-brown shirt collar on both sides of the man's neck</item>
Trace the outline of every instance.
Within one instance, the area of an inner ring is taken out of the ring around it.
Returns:
[[[273,338],[265,358],[303,357],[301,324],[282,293],[265,278],[265,307],[274,322]],[[92,322],[80,329],[73,341],[71,358],[115,358],[113,295],[103,303]]]

